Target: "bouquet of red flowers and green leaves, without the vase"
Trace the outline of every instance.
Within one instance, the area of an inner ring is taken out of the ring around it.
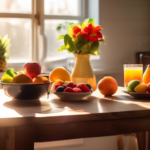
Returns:
[[[76,25],[71,23],[67,33],[57,38],[57,40],[64,40],[64,45],[58,48],[58,51],[99,55],[99,44],[105,42],[101,30],[99,25],[95,26],[95,20],[92,18]]]

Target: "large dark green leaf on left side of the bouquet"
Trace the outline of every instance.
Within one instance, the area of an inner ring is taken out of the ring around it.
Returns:
[[[77,51],[77,48],[75,46],[73,39],[68,34],[64,36],[64,45],[69,52]]]

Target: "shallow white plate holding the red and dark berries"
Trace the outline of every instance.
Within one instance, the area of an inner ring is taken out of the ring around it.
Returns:
[[[52,92],[62,100],[83,100],[92,94],[92,92],[71,93],[71,92]]]

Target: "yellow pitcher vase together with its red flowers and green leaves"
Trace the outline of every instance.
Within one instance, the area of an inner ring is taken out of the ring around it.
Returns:
[[[57,40],[64,40],[64,45],[58,51],[67,50],[75,55],[75,67],[71,74],[71,80],[79,84],[81,82],[92,85],[96,89],[96,78],[90,65],[90,55],[99,55],[99,44],[105,42],[102,28],[95,26],[95,20],[85,19],[82,23],[71,23],[65,35],[60,35]]]

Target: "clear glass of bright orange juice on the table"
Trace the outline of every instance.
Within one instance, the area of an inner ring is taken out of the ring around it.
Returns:
[[[124,87],[132,81],[142,82],[143,64],[124,64]]]

